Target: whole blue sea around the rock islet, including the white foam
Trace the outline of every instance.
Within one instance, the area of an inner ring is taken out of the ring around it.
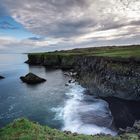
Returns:
[[[86,89],[60,69],[29,66],[26,54],[0,54],[0,127],[26,117],[52,128],[80,134],[115,135],[107,102],[84,94]],[[32,72],[46,82],[27,85],[20,76]],[[68,84],[68,86],[66,86]]]

